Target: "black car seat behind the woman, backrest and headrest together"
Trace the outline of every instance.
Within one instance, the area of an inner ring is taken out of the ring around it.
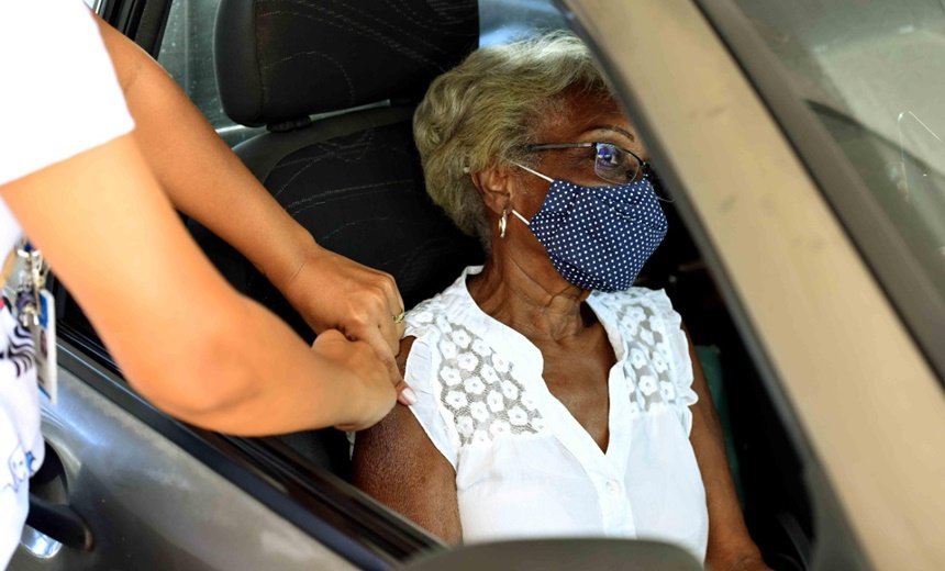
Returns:
[[[412,137],[413,110],[430,81],[478,37],[475,0],[220,2],[214,57],[223,109],[240,124],[266,126],[234,150],[320,245],[391,273],[408,307],[482,258],[427,198]],[[189,226],[237,290],[314,338],[252,264]],[[346,473],[340,433],[286,440]]]

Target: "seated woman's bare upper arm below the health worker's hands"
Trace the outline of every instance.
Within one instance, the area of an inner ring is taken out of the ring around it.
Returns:
[[[401,342],[401,372],[412,342]],[[355,485],[444,541],[462,541],[456,472],[407,406],[396,405],[380,423],[357,434],[353,479]]]

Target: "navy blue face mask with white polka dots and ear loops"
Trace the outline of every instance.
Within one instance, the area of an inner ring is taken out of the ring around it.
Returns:
[[[552,183],[531,221],[512,214],[548,250],[558,273],[583,290],[630,289],[668,227],[653,183],[582,187],[515,165]]]

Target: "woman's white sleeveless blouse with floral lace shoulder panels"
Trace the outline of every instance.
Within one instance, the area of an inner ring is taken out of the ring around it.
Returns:
[[[688,342],[663,291],[587,300],[616,363],[603,452],[542,379],[541,351],[482,312],[467,268],[407,314],[411,406],[456,470],[465,542],[604,536],[677,544],[704,560],[705,493],[689,430]]]

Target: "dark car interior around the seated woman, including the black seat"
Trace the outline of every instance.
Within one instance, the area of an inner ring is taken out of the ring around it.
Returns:
[[[426,86],[479,44],[481,7],[401,0],[365,12],[354,0],[275,4],[220,2],[214,51],[223,109],[240,125],[265,127],[234,150],[319,244],[391,273],[409,309],[482,260],[478,242],[427,199],[411,135]],[[807,569],[816,529],[805,466],[676,212],[672,189],[663,190],[670,231],[637,284],[665,288],[683,316],[766,561]],[[252,264],[196,222],[188,226],[234,287],[314,337]],[[334,429],[253,439],[251,447],[318,478],[349,474],[347,440]]]

